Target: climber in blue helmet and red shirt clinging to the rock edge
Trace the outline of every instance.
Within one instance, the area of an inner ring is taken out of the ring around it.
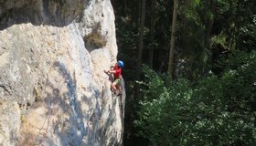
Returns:
[[[117,89],[119,90],[119,95],[122,95],[121,89],[121,73],[123,68],[123,61],[119,60],[115,63],[114,66],[111,67],[111,70],[104,70],[107,74],[113,74],[113,82],[112,82],[112,89],[113,92],[116,93]]]

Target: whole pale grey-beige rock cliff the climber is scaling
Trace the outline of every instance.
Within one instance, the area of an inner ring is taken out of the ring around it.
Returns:
[[[0,145],[122,145],[110,0],[0,0],[0,38]]]

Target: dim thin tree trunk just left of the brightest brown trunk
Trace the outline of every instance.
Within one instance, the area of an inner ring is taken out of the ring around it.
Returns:
[[[150,37],[149,42],[153,43],[155,38],[155,0],[151,0],[151,19],[150,19]],[[153,67],[154,47],[149,48],[148,65]]]

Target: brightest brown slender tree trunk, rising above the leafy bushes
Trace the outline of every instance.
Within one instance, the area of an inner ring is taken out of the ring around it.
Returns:
[[[173,10],[173,22],[172,22],[172,34],[171,34],[171,46],[169,54],[168,63],[168,74],[172,78],[174,72],[174,52],[175,52],[175,37],[176,37],[176,10],[177,10],[178,0],[174,0],[174,10]]]

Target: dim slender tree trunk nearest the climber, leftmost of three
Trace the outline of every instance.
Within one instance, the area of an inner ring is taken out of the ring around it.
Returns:
[[[136,68],[136,79],[140,80],[141,78],[141,66],[142,66],[142,57],[143,57],[143,47],[144,47],[144,17],[145,17],[145,0],[142,4],[141,12],[141,22],[139,29],[139,48],[138,48],[138,57],[137,57],[137,68]]]

